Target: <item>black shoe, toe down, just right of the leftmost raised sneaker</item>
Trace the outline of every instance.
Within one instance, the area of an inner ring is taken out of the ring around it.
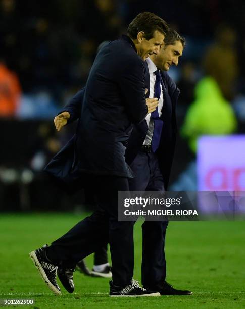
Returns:
[[[62,262],[58,267],[57,275],[63,284],[64,288],[69,292],[74,292],[73,272],[75,271],[75,264],[67,264]]]

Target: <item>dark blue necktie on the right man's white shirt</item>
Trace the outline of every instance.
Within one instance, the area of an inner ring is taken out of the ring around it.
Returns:
[[[154,97],[160,99],[161,95],[161,75],[160,71],[157,70],[154,72],[156,75],[155,88],[154,88]],[[158,108],[151,113],[151,118],[154,120],[154,131],[152,136],[152,150],[155,152],[159,146],[161,133],[163,128],[163,121],[160,119],[158,114]]]

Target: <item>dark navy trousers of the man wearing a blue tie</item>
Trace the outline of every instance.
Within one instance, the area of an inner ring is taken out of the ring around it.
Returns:
[[[163,176],[155,153],[139,152],[130,165],[135,177],[129,179],[131,191],[164,191]],[[142,224],[141,281],[144,287],[155,289],[166,278],[165,233],[167,221],[145,221]]]

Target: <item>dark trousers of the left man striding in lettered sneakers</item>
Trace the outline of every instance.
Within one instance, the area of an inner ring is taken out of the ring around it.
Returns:
[[[128,179],[88,175],[88,181],[94,188],[96,211],[55,240],[47,256],[57,263],[75,264],[109,240],[113,283],[124,287],[133,277],[134,222],[118,221],[118,191],[129,191]]]

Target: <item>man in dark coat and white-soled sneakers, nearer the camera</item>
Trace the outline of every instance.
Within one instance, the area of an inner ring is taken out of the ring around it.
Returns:
[[[64,153],[65,157],[70,155],[70,145],[75,145],[72,169],[68,171],[70,181],[79,178],[80,184],[86,181],[94,187],[98,210],[50,247],[30,252],[42,278],[56,294],[61,293],[56,270],[64,287],[72,293],[75,264],[109,239],[113,274],[110,296],[160,296],[140,288],[132,279],[133,223],[118,221],[118,191],[129,190],[132,172],[125,162],[125,145],[133,124],[144,120],[148,112],[144,60],[158,54],[167,30],[160,17],[140,13],[130,23],[128,36],[104,46],[94,60],[76,135],[62,150],[63,157],[58,154],[50,168],[57,177],[67,173],[67,165],[60,171],[56,164],[59,166],[61,159],[66,159]]]

